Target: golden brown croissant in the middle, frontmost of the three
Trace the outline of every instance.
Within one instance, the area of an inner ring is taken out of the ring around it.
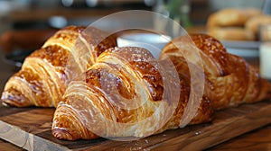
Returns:
[[[145,49],[107,49],[84,80],[70,83],[54,113],[53,136],[140,138],[179,128],[190,87],[178,74],[176,79],[167,76],[162,64]],[[206,96],[196,110],[190,124],[210,121],[212,109]]]

